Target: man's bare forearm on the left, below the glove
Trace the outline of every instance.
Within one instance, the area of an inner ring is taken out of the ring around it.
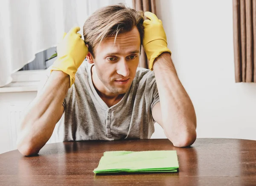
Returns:
[[[52,71],[43,90],[27,108],[17,140],[17,147],[23,155],[38,153],[51,137],[62,116],[62,103],[69,85],[69,75]]]

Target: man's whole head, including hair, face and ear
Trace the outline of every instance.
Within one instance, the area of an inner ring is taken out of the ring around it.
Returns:
[[[131,86],[139,64],[143,21],[142,11],[118,4],[100,8],[84,23],[87,60],[95,64],[97,76],[112,93],[123,94]]]

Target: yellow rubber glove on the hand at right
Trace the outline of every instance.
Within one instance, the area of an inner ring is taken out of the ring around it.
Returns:
[[[153,70],[154,59],[156,59],[163,52],[172,52],[167,48],[166,34],[163,29],[162,21],[157,16],[149,11],[146,11],[145,17],[150,20],[145,20],[143,47],[149,60],[148,68]]]

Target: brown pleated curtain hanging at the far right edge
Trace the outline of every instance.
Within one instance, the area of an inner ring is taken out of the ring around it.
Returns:
[[[256,82],[256,0],[233,0],[236,82]]]

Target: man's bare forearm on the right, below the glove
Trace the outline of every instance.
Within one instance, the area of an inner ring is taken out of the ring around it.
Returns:
[[[153,68],[166,136],[177,147],[189,146],[196,138],[195,109],[177,76],[170,54],[158,56]]]

